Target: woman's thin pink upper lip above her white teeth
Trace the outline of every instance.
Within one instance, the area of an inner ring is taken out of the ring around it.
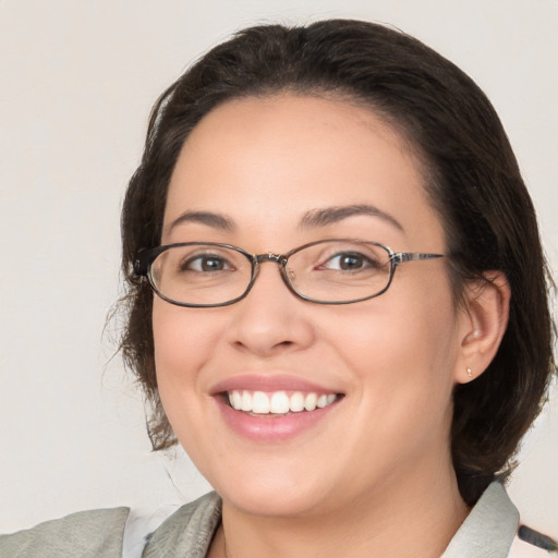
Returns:
[[[319,385],[314,381],[303,379],[299,376],[281,374],[281,375],[258,375],[246,374],[233,376],[215,384],[210,393],[216,396],[226,391],[245,389],[250,391],[303,391],[312,393],[341,393],[339,389]]]

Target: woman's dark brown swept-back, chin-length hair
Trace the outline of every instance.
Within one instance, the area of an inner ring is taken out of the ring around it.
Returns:
[[[509,472],[553,369],[547,272],[535,211],[499,119],[474,82],[418,40],[366,22],[244,29],[205,54],[155,105],[122,210],[128,304],[121,342],[151,408],[153,447],[175,439],[157,390],[153,292],[134,276],[134,257],[160,243],[169,180],[199,120],[229,99],[280,92],[349,98],[396,126],[427,169],[426,187],[445,226],[456,293],[489,270],[502,271],[509,281],[509,325],[498,353],[480,378],[454,390],[453,465],[471,505],[498,472],[502,477]]]

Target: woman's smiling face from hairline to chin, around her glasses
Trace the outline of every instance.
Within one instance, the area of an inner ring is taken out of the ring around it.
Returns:
[[[281,254],[336,238],[445,252],[420,165],[373,112],[313,97],[247,98],[194,129],[170,183],[162,244]],[[155,296],[165,410],[227,504],[266,515],[339,510],[451,470],[466,317],[445,265],[403,264],[380,296],[339,306],[296,298],[274,263],[230,306]],[[315,397],[336,397],[313,411],[260,414],[233,410],[232,391],[294,396],[310,409]]]

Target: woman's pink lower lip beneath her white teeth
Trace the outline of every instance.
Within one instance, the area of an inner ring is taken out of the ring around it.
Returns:
[[[272,444],[294,438],[313,428],[337,407],[339,399],[328,407],[315,411],[301,411],[284,416],[255,416],[236,411],[228,405],[222,398],[216,398],[219,410],[229,427],[243,438],[253,441]]]

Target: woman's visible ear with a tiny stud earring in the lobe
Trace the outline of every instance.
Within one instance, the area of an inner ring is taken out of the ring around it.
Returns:
[[[508,326],[510,287],[504,274],[489,271],[466,286],[464,298],[458,384],[478,377],[496,355]]]

